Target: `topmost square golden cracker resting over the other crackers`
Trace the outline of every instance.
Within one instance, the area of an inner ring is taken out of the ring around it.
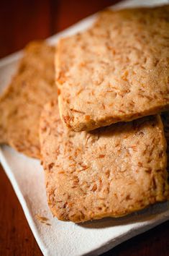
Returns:
[[[106,11],[63,38],[56,56],[60,116],[74,131],[169,108],[169,6]]]

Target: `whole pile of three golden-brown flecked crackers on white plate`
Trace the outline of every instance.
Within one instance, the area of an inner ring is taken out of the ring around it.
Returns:
[[[0,99],[0,140],[41,158],[58,219],[125,216],[169,199],[169,118],[160,116],[169,109],[168,17],[169,6],[101,12],[59,41],[57,86],[52,46],[26,48]]]

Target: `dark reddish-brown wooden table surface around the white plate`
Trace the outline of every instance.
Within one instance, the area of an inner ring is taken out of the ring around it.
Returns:
[[[0,1],[0,57],[43,39],[93,14],[114,0]],[[104,256],[169,255],[169,221],[106,252]],[[0,255],[42,255],[0,166]],[[67,256],[67,255],[65,255]]]

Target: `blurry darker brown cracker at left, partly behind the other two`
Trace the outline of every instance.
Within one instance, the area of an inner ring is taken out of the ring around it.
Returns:
[[[17,74],[0,98],[0,142],[40,158],[39,120],[45,103],[57,98],[53,46],[32,42]]]

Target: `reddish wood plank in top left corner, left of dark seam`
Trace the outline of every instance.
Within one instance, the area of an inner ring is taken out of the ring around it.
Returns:
[[[0,1],[0,57],[18,51],[29,40],[45,39],[50,31],[50,2]]]

